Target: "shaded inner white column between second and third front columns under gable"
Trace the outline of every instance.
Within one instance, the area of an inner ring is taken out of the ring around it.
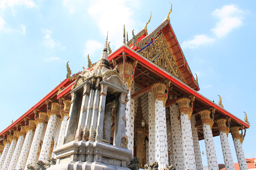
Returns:
[[[194,142],[196,169],[203,170],[203,163],[202,163],[201,151],[200,151],[200,146],[199,146],[198,133],[197,133],[197,128],[195,127],[195,124],[196,124],[195,116],[192,116],[191,117],[191,128],[192,128],[192,135],[193,135],[193,142]]]

